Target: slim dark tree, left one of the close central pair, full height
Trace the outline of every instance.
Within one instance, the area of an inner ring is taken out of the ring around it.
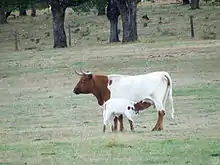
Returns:
[[[116,0],[108,0],[107,18],[110,21],[109,42],[119,42],[118,17],[120,15]]]

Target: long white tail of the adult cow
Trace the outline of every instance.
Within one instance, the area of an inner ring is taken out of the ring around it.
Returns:
[[[173,107],[173,88],[172,88],[172,79],[169,75],[169,73],[165,73],[164,74],[164,77],[166,78],[167,80],[167,90],[166,90],[166,93],[165,93],[165,96],[164,96],[164,99],[163,99],[163,103],[164,103],[164,106],[166,104],[166,100],[167,100],[167,97],[169,99],[169,105],[170,105],[170,109],[171,109],[171,118],[174,119],[174,107]]]

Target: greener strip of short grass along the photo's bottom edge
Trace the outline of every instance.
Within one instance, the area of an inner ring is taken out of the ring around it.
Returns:
[[[129,135],[126,135],[129,136]],[[118,138],[126,138],[120,136]],[[208,140],[208,141],[207,141]],[[106,142],[109,141],[109,142]],[[147,139],[130,142],[99,137],[94,140],[72,139],[69,142],[33,142],[3,146],[5,156],[13,155],[12,164],[215,164],[212,157],[220,152],[219,139]],[[111,143],[111,144],[109,144]],[[34,151],[33,151],[34,150]],[[10,155],[9,155],[10,153]]]

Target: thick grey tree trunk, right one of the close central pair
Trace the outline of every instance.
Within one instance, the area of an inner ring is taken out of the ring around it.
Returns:
[[[136,0],[117,0],[122,18],[122,42],[137,41]]]

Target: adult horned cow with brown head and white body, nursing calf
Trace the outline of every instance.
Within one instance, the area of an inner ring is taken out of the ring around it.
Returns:
[[[145,98],[155,103],[158,111],[157,123],[153,131],[163,129],[163,117],[165,104],[169,98],[171,105],[171,117],[174,117],[172,80],[167,72],[151,72],[141,75],[95,75],[91,72],[76,72],[81,76],[73,92],[75,94],[93,94],[99,105],[103,105],[110,98],[125,98],[139,102]],[[142,109],[150,107],[143,104]],[[114,130],[117,129],[117,120],[120,122],[120,131],[123,130],[123,116],[114,119]]]

